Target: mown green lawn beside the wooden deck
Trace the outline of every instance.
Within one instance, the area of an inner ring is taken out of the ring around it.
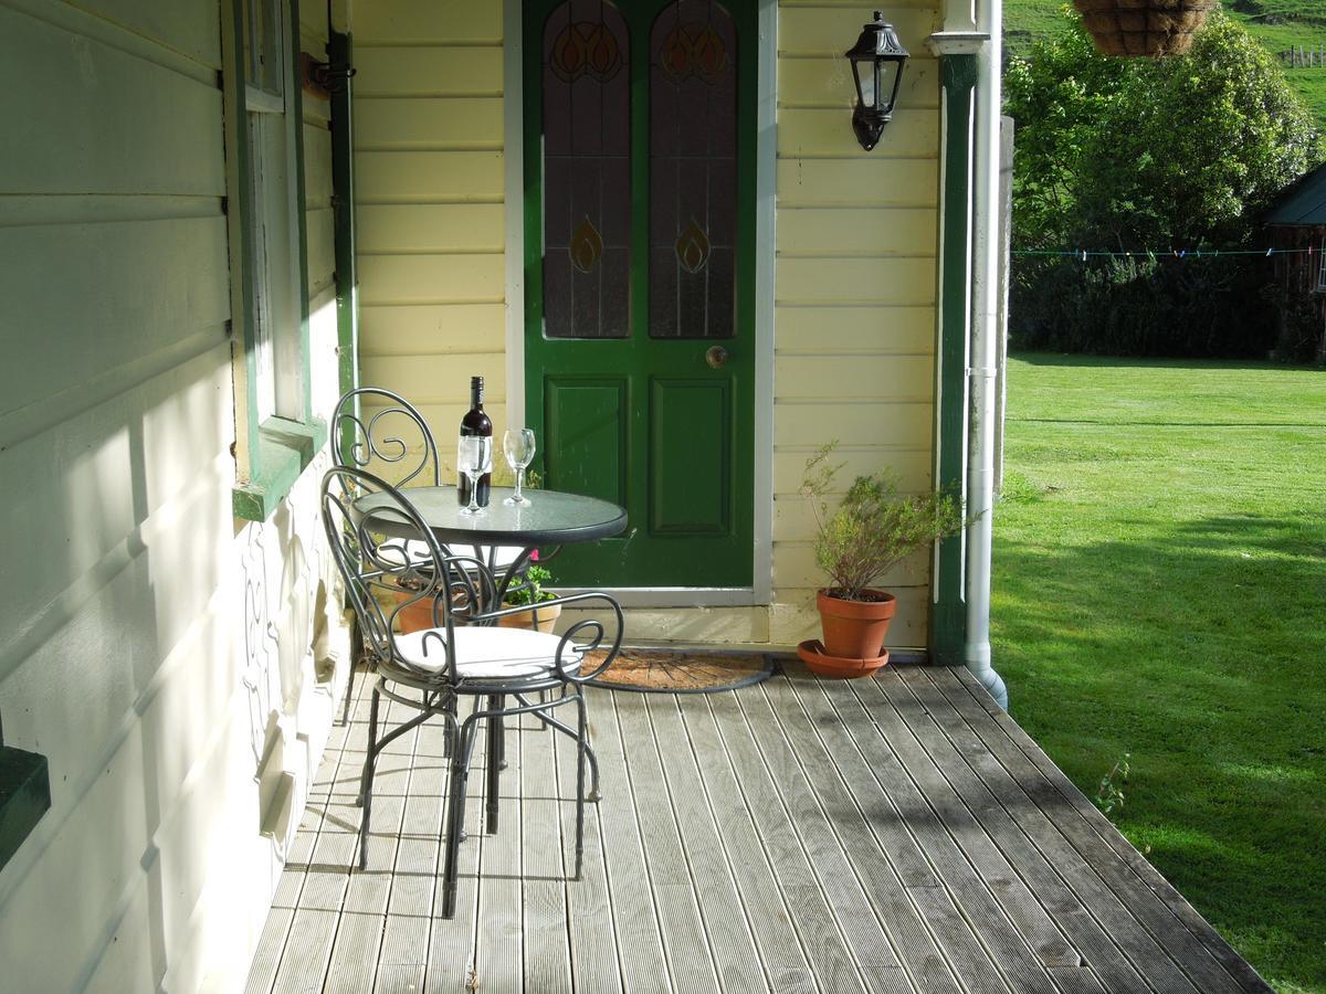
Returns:
[[[1278,990],[1326,991],[1326,371],[1021,355],[1013,716]]]

